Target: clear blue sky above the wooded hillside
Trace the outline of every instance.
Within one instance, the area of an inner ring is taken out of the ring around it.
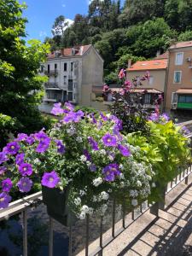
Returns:
[[[76,14],[86,15],[89,6],[89,0],[25,0],[25,3],[28,6],[24,11],[28,19],[27,39],[37,38],[42,41],[46,36],[51,37],[51,27],[57,16],[64,15],[73,20]]]

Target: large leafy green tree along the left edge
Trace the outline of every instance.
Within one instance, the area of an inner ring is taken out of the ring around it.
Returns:
[[[46,77],[38,75],[38,68],[49,45],[31,40],[26,46],[24,8],[16,0],[0,2],[0,113],[15,119],[15,131],[32,132],[45,125],[38,94]]]

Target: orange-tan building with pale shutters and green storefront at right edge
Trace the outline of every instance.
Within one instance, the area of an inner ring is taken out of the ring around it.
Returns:
[[[169,49],[165,108],[167,112],[192,110],[192,41],[172,44]]]

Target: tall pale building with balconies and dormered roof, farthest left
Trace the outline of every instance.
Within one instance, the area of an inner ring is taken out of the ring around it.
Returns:
[[[90,107],[92,88],[102,88],[103,60],[92,45],[61,49],[47,56],[41,73],[49,77],[42,112],[49,113],[55,102]]]

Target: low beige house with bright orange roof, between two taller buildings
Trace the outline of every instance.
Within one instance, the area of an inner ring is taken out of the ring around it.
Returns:
[[[127,79],[137,79],[143,77],[147,72],[149,79],[142,81],[142,86],[138,86],[134,92],[143,92],[143,106],[145,108],[155,108],[154,101],[162,95],[166,84],[167,54],[160,55],[151,61],[137,61],[127,68]]]

